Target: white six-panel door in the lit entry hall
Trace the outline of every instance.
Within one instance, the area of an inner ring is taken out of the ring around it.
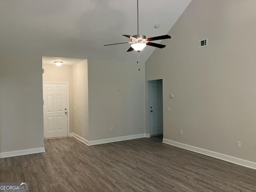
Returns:
[[[44,138],[68,136],[66,84],[43,84]]]

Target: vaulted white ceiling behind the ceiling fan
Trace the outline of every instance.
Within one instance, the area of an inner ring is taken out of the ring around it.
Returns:
[[[190,1],[139,0],[140,34],[167,34]],[[136,6],[136,0],[0,0],[0,52],[135,62],[137,53],[126,52],[130,44],[103,45],[137,34]],[[154,49],[146,46],[140,61]]]

